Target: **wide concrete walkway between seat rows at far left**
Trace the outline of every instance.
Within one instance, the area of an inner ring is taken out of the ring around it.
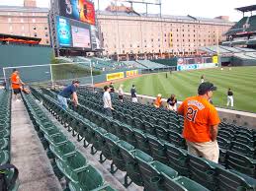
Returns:
[[[23,102],[12,101],[11,162],[19,169],[19,190],[62,190]]]

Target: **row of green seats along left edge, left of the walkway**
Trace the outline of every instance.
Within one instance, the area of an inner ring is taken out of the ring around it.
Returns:
[[[11,162],[11,94],[2,90],[0,90],[0,116],[0,165],[3,165]],[[9,185],[14,176],[14,170],[2,172],[6,173],[6,182]],[[16,181],[10,185],[9,189],[16,191],[18,186],[19,183]]]

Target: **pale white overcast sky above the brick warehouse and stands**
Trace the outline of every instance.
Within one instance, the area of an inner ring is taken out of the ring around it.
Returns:
[[[96,9],[98,0],[94,0]],[[111,0],[99,0],[100,8],[105,9]],[[48,7],[49,0],[37,0],[39,7]],[[242,14],[234,8],[256,4],[255,0],[162,0],[162,12],[167,15],[196,16],[214,18],[217,16],[229,16],[230,21],[238,21]],[[23,0],[0,0],[0,5],[23,5]],[[126,4],[128,5],[128,4]],[[145,7],[135,5],[134,9],[140,13],[145,12]],[[149,6],[150,13],[158,13],[158,7]],[[249,15],[250,13],[248,13]],[[256,12],[254,12],[256,14]]]

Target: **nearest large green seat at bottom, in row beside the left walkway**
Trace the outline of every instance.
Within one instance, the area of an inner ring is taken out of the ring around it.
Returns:
[[[101,173],[92,165],[88,165],[84,170],[77,173],[75,182],[70,181],[68,187],[70,191],[91,191],[104,185]]]

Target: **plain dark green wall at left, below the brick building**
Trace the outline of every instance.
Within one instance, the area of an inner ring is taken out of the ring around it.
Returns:
[[[0,44],[0,77],[3,78],[3,68],[33,65],[46,65],[50,63],[52,49],[49,46],[29,46],[17,44]],[[9,78],[13,69],[6,70]],[[49,81],[50,67],[19,68],[24,82]]]

